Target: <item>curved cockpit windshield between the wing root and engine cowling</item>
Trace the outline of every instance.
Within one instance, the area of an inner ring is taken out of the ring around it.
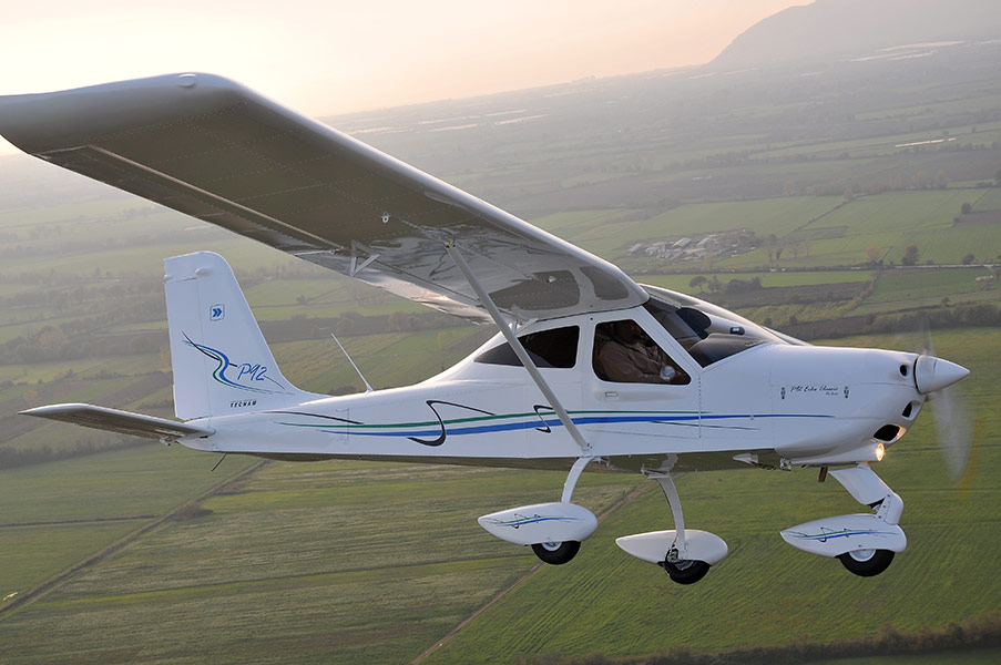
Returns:
[[[643,285],[643,306],[702,367],[765,342],[788,344],[774,332],[711,303]]]

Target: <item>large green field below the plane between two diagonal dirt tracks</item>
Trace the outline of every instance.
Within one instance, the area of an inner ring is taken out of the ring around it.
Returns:
[[[579,500],[601,512],[629,480],[589,478]],[[537,563],[477,515],[561,484],[544,472],[272,463],[3,616],[4,662],[406,661]],[[213,640],[192,649],[206,630]]]

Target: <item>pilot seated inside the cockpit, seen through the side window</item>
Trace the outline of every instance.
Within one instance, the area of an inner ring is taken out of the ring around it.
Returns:
[[[685,375],[674,367],[656,345],[643,344],[640,324],[629,319],[613,324],[614,336],[597,352],[605,379],[622,383],[684,383]]]

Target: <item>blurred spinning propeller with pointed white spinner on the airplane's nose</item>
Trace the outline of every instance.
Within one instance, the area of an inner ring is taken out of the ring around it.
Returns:
[[[927,316],[921,328],[923,348],[915,361],[915,386],[933,405],[932,418],[946,470],[953,482],[959,482],[970,463],[973,413],[953,385],[970,370],[934,355]]]

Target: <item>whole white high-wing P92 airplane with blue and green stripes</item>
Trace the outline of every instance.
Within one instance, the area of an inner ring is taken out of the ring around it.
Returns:
[[[584,469],[643,473],[675,528],[619,545],[690,584],[727,554],[687,529],[680,473],[818,468],[870,512],[782,532],[875,575],[907,540],[872,471],[926,400],[964,376],[929,354],[815,347],[615,266],[226,79],[174,74],[0,98],[0,133],[65,168],[500,332],[406,388],[329,397],[280,372],[225,260],[165,260],[182,422],[91,405],[24,411],[283,460],[568,471],[559,501],[479,519],[562,564],[597,521]]]

